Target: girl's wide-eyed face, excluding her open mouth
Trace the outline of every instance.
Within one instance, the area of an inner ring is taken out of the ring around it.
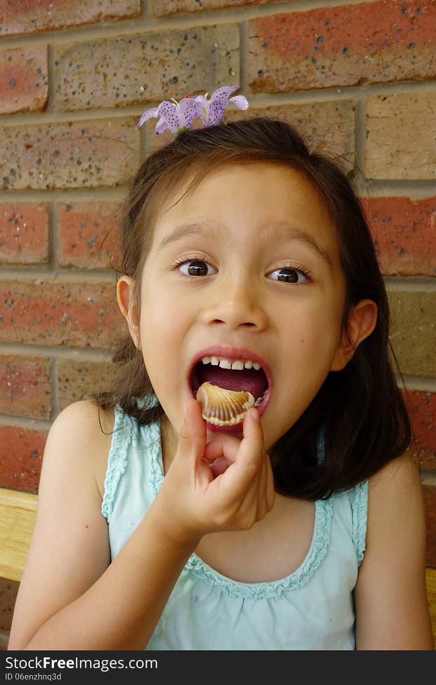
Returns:
[[[208,348],[218,347],[219,358],[231,356],[220,348],[243,348],[237,358],[259,358],[269,376],[260,408],[268,450],[328,372],[344,365],[338,351],[345,280],[335,227],[317,192],[276,163],[223,166],[165,208],[145,261],[139,334],[167,417],[167,444],[177,444],[184,402],[193,396],[193,362],[210,356]],[[241,429],[242,423],[232,432],[242,437]]]

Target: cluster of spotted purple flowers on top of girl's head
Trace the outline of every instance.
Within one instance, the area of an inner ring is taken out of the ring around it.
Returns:
[[[170,129],[174,138],[175,134],[180,133],[180,130],[192,129],[193,121],[197,116],[202,119],[203,126],[213,126],[221,121],[229,102],[233,102],[240,110],[246,110],[249,107],[247,99],[243,95],[229,97],[238,88],[239,86],[218,88],[210,96],[210,100],[207,99],[207,92],[206,95],[195,95],[194,97],[186,95],[180,102],[173,97],[171,98],[173,102],[164,100],[158,107],[152,107],[144,112],[136,128],[138,129],[152,116],[159,117],[156,129],[154,129],[155,134],[159,135]]]

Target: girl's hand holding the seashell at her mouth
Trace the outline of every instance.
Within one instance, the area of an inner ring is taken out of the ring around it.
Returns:
[[[273,508],[271,463],[263,449],[261,422],[253,414],[258,416],[256,409],[243,418],[242,440],[217,433],[206,446],[201,406],[195,399],[186,400],[175,457],[152,505],[160,530],[175,542],[189,544],[206,533],[247,530]],[[215,459],[230,464],[224,473],[219,473],[222,468],[214,473],[208,465]]]

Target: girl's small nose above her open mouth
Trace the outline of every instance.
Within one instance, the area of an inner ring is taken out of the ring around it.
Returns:
[[[241,286],[241,282],[219,292],[213,293],[213,302],[208,301],[202,311],[202,323],[226,324],[230,329],[240,326],[264,330],[267,327],[265,303],[259,293],[250,284]]]

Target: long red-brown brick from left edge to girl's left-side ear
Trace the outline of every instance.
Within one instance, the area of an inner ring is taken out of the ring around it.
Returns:
[[[124,325],[114,284],[0,283],[0,340],[108,349]]]

